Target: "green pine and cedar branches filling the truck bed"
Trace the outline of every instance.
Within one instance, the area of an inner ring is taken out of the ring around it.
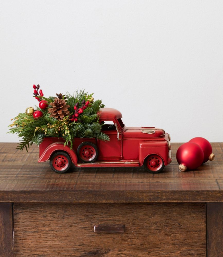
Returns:
[[[74,114],[74,105],[78,102],[81,107],[83,100],[87,101],[93,94],[88,95],[84,90],[76,91],[73,95],[66,93],[66,102],[70,106],[70,115]],[[54,97],[41,97],[46,100],[48,104],[54,101]],[[50,105],[48,107],[51,107]],[[101,100],[95,100],[93,104],[89,105],[83,113],[78,116],[77,122],[71,122],[70,116],[65,116],[62,120],[57,120],[50,117],[48,108],[45,110],[35,106],[35,110],[43,113],[42,117],[34,119],[26,113],[20,113],[16,116],[10,126],[8,133],[17,134],[21,140],[17,149],[28,151],[28,148],[33,144],[40,145],[44,137],[62,137],[65,140],[64,145],[70,144],[73,146],[75,137],[97,138],[103,141],[109,141],[109,136],[103,133],[102,125],[99,123],[100,108],[103,108]]]

